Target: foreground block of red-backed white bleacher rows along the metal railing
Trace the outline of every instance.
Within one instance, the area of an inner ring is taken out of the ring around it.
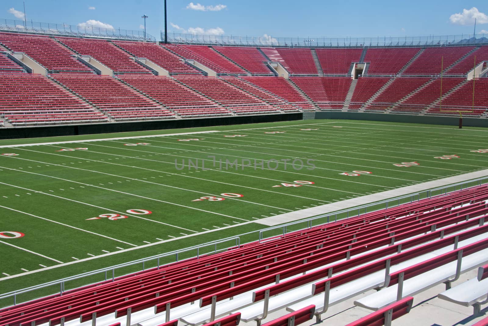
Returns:
[[[470,268],[486,263],[487,200],[488,186],[483,185],[251,242],[0,309],[0,326],[59,325],[75,319],[109,325],[122,317],[142,326],[148,325],[145,321],[155,325],[154,318],[200,325],[238,312],[240,320],[248,322],[285,307],[295,312],[311,309],[306,302],[312,299],[327,304],[314,304],[312,313],[320,318],[328,305],[342,300],[324,302],[324,291],[339,291],[355,280],[366,286],[355,288],[356,295],[378,286],[387,289],[404,282],[398,281],[401,273],[408,282],[429,266],[459,259],[460,250],[477,255]],[[436,250],[441,250],[437,256],[430,254]],[[382,278],[368,283],[375,272]],[[199,299],[200,304],[191,304]],[[269,303],[267,308],[263,302]],[[182,306],[186,308],[175,309]]]

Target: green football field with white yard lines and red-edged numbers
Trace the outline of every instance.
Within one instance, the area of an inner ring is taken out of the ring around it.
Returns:
[[[308,120],[1,140],[0,292],[485,170],[487,131]]]

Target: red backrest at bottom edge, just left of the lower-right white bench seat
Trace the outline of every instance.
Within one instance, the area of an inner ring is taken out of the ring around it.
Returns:
[[[391,326],[391,321],[407,314],[412,308],[413,297],[407,297],[394,304],[387,305],[383,309],[377,310],[369,315],[358,319],[346,326],[370,326],[385,325]]]

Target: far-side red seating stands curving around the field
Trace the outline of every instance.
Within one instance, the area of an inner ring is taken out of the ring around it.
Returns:
[[[346,109],[427,114],[456,114],[461,110],[476,116],[484,116],[488,109],[487,79],[475,79],[473,84],[459,77],[488,59],[488,46],[364,49],[162,46],[147,42],[17,33],[0,33],[0,44],[6,50],[26,53],[46,67],[55,81],[64,80],[64,86],[71,91],[57,91],[56,101],[59,103],[46,110],[52,102],[40,100],[43,90],[36,93],[35,87],[24,85],[29,79],[20,76],[19,73],[24,71],[22,67],[0,54],[0,73],[10,74],[9,78],[2,79],[3,86],[12,87],[8,83],[20,85],[14,87],[17,95],[26,96],[23,102],[16,99],[0,106],[2,118],[14,126],[339,110],[344,108],[351,86],[351,79],[346,75],[351,64],[360,61],[368,65],[368,71],[351,91],[352,98]],[[77,55],[89,55],[99,60],[113,69],[128,87],[120,80],[92,77],[94,71],[81,64]],[[137,64],[135,58],[149,59],[175,78],[155,77]],[[200,61],[221,74],[242,76],[203,78],[202,72],[186,64],[185,59]],[[290,80],[272,76],[265,65],[267,61],[281,63],[291,73]],[[438,76],[441,66],[445,70],[442,81]],[[319,70],[336,76],[319,77]],[[399,72],[402,73],[400,77],[394,76]],[[415,77],[417,75],[419,77]],[[38,83],[40,79],[32,80]],[[53,85],[49,80],[45,83]],[[97,83],[99,85],[95,86]],[[89,88],[96,89],[101,96]],[[168,94],[167,89],[175,93]],[[121,96],[122,93],[126,94]],[[442,99],[439,99],[440,94]],[[76,97],[78,99],[74,100]],[[8,99],[3,97],[3,100]],[[89,112],[73,111],[72,101],[81,101]]]

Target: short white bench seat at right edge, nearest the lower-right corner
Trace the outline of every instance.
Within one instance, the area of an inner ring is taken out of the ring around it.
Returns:
[[[438,295],[439,299],[447,300],[466,307],[473,306],[473,315],[478,315],[482,304],[488,303],[488,264],[478,268],[478,276],[461,283]]]

